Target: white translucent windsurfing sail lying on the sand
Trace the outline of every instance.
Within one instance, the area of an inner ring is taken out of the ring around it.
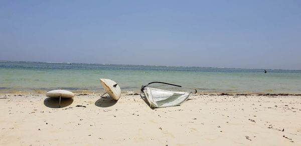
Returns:
[[[143,89],[150,107],[169,107],[185,102],[192,92],[170,91],[159,88],[145,87]]]

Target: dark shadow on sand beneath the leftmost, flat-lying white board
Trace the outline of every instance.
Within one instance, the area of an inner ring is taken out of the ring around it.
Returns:
[[[66,107],[73,102],[73,98],[61,98],[61,105],[59,105],[60,98],[48,97],[44,100],[44,105],[50,108]]]

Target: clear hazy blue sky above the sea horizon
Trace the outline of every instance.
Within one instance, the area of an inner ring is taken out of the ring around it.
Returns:
[[[0,0],[0,60],[301,69],[301,1]]]

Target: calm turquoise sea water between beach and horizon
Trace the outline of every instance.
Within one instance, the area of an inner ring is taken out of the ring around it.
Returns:
[[[103,92],[99,78],[110,78],[121,90],[163,81],[203,93],[301,93],[301,70],[174,67],[118,64],[0,61],[0,92],[51,90]],[[157,85],[165,89],[181,88]]]

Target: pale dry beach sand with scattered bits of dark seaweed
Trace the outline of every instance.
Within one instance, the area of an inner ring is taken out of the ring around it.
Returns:
[[[117,102],[77,95],[58,108],[45,95],[6,94],[0,145],[301,145],[300,103],[301,96],[192,95],[152,109],[123,94]]]

